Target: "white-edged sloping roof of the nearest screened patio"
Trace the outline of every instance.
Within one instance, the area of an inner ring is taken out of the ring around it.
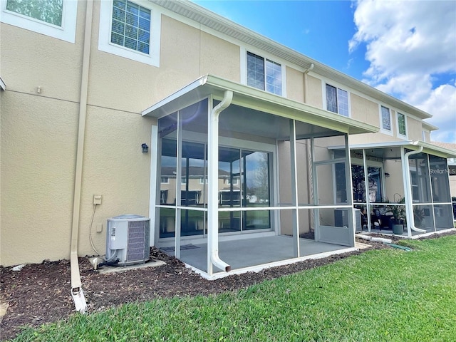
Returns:
[[[215,100],[222,100],[225,90],[233,92],[233,100],[232,105],[223,113],[224,115],[239,115],[239,120],[254,118],[255,115],[249,115],[249,113],[262,112],[312,125],[316,128],[312,130],[312,133],[319,136],[334,135],[335,132],[348,134],[378,132],[377,127],[368,123],[212,75],[202,76],[176,93],[160,100],[144,110],[142,116],[162,118],[210,96]],[[232,110],[231,113],[230,110]],[[244,113],[239,113],[239,110]],[[261,127],[260,124],[258,123],[259,127]],[[261,129],[266,130],[267,128],[264,126]]]

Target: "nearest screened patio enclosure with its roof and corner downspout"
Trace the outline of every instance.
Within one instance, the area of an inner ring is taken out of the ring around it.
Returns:
[[[157,118],[151,244],[202,276],[355,247],[348,135],[374,126],[210,75],[142,115]]]

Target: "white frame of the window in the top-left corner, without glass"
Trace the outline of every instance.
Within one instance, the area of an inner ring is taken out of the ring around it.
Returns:
[[[75,43],[76,17],[78,15],[78,1],[63,0],[62,26],[56,26],[38,19],[24,16],[6,9],[6,0],[0,2],[0,21],[4,24],[24,28],[28,31],[41,33],[45,36]]]

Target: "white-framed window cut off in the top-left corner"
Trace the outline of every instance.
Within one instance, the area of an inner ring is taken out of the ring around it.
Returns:
[[[6,0],[0,4],[1,22],[75,42],[78,1]]]

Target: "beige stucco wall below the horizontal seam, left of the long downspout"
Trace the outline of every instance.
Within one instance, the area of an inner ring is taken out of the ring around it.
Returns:
[[[76,103],[2,94],[0,264],[69,257],[77,118]]]

